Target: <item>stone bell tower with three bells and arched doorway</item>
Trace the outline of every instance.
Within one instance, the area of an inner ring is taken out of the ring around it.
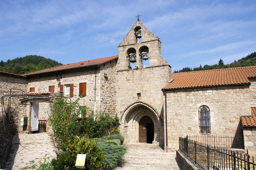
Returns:
[[[142,134],[147,123],[145,127],[140,124],[141,118],[146,117],[151,122],[147,129],[151,135],[150,143],[163,145],[164,102],[161,89],[172,80],[172,73],[171,66],[162,58],[160,38],[151,33],[138,18],[118,46],[118,55],[116,109],[124,142],[148,143],[146,138],[149,136]],[[148,62],[147,66],[145,62]],[[144,129],[141,129],[142,126]]]

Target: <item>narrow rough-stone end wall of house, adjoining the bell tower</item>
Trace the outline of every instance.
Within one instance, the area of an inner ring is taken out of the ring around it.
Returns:
[[[101,112],[116,113],[116,61],[101,65]]]

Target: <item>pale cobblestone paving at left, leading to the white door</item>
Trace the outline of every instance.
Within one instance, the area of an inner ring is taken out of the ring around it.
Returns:
[[[19,133],[13,136],[12,149],[4,170],[20,170],[30,167],[31,162],[56,157],[51,137],[45,133]]]

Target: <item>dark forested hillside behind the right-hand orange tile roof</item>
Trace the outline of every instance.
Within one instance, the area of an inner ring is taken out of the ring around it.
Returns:
[[[233,63],[224,65],[222,59],[219,60],[218,64],[215,65],[200,65],[199,67],[184,67],[182,70],[175,70],[174,72],[192,72],[192,71],[201,71],[201,70],[213,70],[213,69],[222,69],[222,68],[234,68],[234,67],[246,67],[256,65],[256,52],[250,53],[248,56],[243,57],[242,59],[235,60]]]

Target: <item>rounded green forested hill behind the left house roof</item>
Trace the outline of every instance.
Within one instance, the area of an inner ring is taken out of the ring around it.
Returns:
[[[8,59],[7,62],[2,60],[0,62],[0,71],[14,74],[25,74],[58,65],[62,64],[52,59],[46,59],[42,56],[28,55],[26,57],[18,57],[12,60]]]

